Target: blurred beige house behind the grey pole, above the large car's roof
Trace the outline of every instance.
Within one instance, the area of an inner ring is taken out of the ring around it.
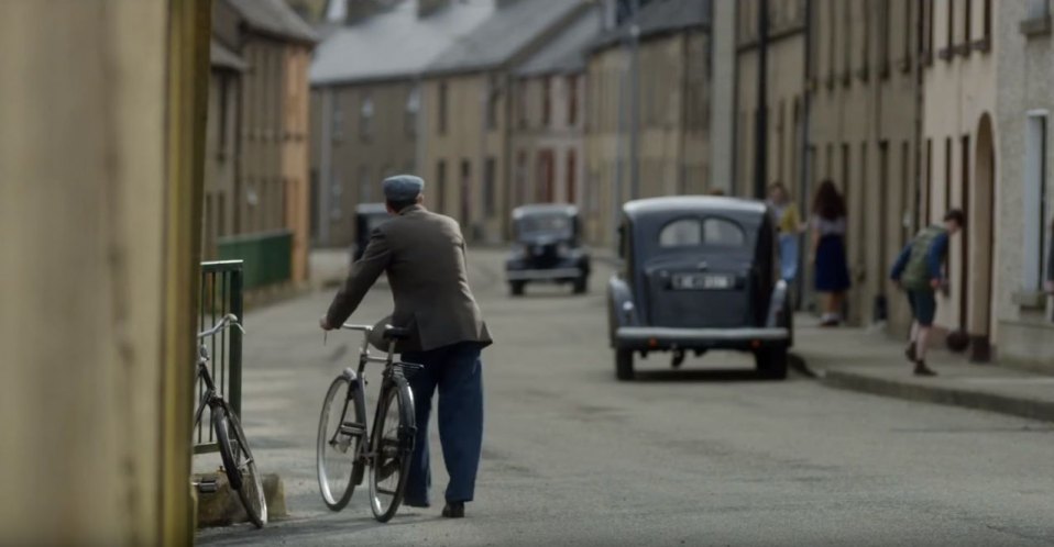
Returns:
[[[709,188],[710,13],[709,2],[652,2],[590,51],[586,180],[597,200],[586,220],[597,243],[614,242],[626,201]]]

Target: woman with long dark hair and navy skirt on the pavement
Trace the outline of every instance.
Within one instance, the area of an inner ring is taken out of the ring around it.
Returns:
[[[845,199],[834,182],[824,180],[812,203],[812,259],[815,289],[823,299],[820,326],[842,323],[842,303],[849,289],[849,267],[845,253]]]

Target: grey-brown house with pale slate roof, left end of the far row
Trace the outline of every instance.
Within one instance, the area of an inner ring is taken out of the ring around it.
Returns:
[[[354,210],[381,200],[384,177],[417,172],[420,78],[457,40],[485,21],[491,2],[334,0],[311,64],[312,235],[317,245],[354,237]]]

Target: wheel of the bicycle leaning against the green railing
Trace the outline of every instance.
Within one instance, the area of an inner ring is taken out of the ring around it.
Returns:
[[[263,479],[256,469],[256,460],[253,459],[249,439],[242,431],[238,415],[223,402],[212,410],[212,424],[231,488],[238,492],[249,520],[257,528],[262,528],[267,523]]]

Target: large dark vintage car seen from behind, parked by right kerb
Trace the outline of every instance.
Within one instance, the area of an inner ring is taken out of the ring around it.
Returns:
[[[634,356],[750,351],[758,371],[787,376],[793,325],[780,279],[772,215],[757,201],[655,198],[623,206],[624,266],[608,283],[611,345],[619,380]]]

